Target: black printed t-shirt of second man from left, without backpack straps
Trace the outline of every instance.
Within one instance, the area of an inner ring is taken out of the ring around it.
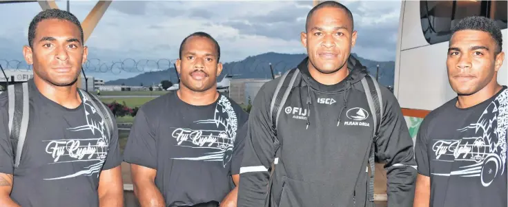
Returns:
[[[194,106],[170,93],[143,105],[130,131],[124,160],[157,169],[166,206],[222,201],[240,173],[248,113],[220,95]]]

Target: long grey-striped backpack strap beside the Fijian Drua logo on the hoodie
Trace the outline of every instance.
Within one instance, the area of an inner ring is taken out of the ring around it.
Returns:
[[[382,95],[378,83],[370,75],[362,79],[367,102],[374,120],[373,143],[371,144],[371,153],[369,155],[369,165],[371,167],[371,176],[369,178],[369,201],[374,201],[374,173],[375,173],[375,142],[378,140],[378,130],[383,116]]]

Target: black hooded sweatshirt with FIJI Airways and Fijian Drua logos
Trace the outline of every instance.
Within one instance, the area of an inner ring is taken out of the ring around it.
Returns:
[[[297,66],[302,75],[280,107],[276,133],[270,106],[280,78],[264,84],[253,101],[238,207],[373,206],[367,197],[373,116],[360,82],[367,71],[353,67],[340,83],[323,85],[307,63]],[[380,90],[384,116],[375,157],[387,170],[388,206],[413,206],[413,142],[395,96]]]

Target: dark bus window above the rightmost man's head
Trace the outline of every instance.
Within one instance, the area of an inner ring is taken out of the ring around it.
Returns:
[[[420,1],[422,32],[431,45],[449,41],[451,28],[471,16],[489,17],[506,29],[507,1]]]

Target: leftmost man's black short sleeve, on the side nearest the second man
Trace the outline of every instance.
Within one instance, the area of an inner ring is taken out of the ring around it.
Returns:
[[[110,117],[113,119],[113,133],[111,134],[111,139],[108,144],[108,155],[106,157],[106,162],[104,162],[103,171],[115,168],[121,164],[121,154],[120,154],[120,146],[118,142],[118,126],[117,120],[115,120],[115,116],[113,113],[108,110]]]

